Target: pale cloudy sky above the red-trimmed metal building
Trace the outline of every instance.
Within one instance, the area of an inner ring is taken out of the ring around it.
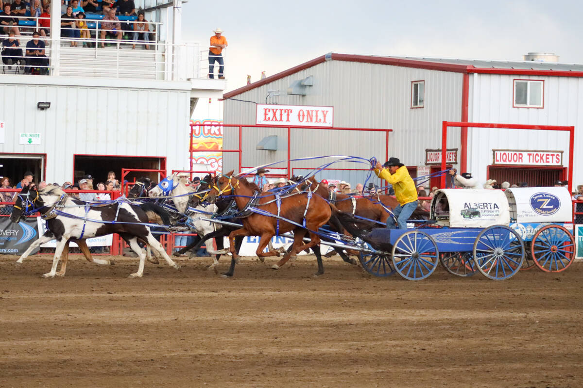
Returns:
[[[554,52],[583,63],[583,5],[574,1],[190,1],[184,40],[229,42],[226,91],[326,52],[521,60]],[[215,70],[216,71],[216,70]]]

